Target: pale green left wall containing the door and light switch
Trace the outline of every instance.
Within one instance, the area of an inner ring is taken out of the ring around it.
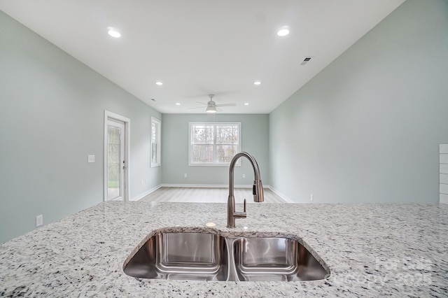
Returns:
[[[104,110],[131,120],[131,198],[160,184],[149,168],[160,113],[3,12],[0,104],[0,243],[34,229],[36,215],[45,224],[103,200]]]

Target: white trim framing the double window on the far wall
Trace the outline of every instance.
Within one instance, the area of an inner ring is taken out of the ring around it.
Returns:
[[[197,122],[188,122],[188,166],[229,166],[230,162],[191,162],[191,128],[193,125],[213,125],[214,129],[216,129],[216,125],[237,125],[238,126],[238,147],[237,152],[241,152],[242,144],[241,144],[241,134],[242,134],[242,125],[239,121],[223,121],[223,122],[213,122],[213,121],[197,121]],[[216,149],[216,134],[214,134],[214,151]],[[216,157],[216,152],[214,152],[214,156]],[[237,164],[235,166],[241,166],[241,159],[238,159]]]

